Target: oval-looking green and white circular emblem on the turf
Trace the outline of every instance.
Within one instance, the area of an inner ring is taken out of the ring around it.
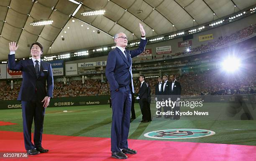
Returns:
[[[211,130],[202,129],[170,129],[170,130],[158,130],[145,133],[147,138],[154,139],[189,139],[189,138],[202,138],[205,136],[214,135],[215,132]]]

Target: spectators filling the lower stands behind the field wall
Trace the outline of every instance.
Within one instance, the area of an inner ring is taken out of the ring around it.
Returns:
[[[134,78],[135,91],[138,92],[140,82]],[[239,88],[256,87],[256,72],[252,72],[241,77],[227,77],[216,70],[204,72],[190,72],[177,77],[182,84],[182,95],[234,95],[248,94],[250,91],[241,91]],[[155,93],[157,77],[146,78],[150,84],[151,94]],[[20,84],[0,83],[0,100],[16,100]],[[224,91],[224,92],[223,92]],[[88,79],[82,84],[82,80],[64,82],[54,82],[54,97],[76,97],[76,96],[97,96],[110,95],[108,82],[101,82],[100,79]]]

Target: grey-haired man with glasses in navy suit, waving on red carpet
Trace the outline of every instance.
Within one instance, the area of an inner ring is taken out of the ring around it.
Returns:
[[[106,77],[110,84],[112,99],[112,127],[111,127],[111,151],[113,158],[126,159],[125,154],[136,154],[137,151],[128,148],[128,133],[131,115],[131,92],[134,93],[132,60],[131,58],[141,54],[147,43],[145,31],[141,23],[141,42],[138,49],[127,50],[125,47],[128,38],[124,33],[114,36],[116,48],[109,52],[106,66]]]

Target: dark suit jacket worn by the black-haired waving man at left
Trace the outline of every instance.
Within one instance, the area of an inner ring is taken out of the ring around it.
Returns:
[[[8,55],[8,68],[13,71],[22,71],[23,81],[17,100],[30,101],[35,93],[39,100],[43,100],[46,96],[52,97],[54,81],[50,63],[41,61],[39,78],[36,77],[36,69],[32,59],[20,60],[16,63],[15,54]]]

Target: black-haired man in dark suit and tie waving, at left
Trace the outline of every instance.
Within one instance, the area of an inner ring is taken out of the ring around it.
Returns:
[[[18,94],[21,101],[23,118],[23,136],[27,153],[36,155],[47,153],[41,145],[45,108],[49,105],[53,93],[53,75],[51,64],[41,61],[43,46],[32,43],[32,59],[15,62],[15,51],[18,49],[15,42],[9,43],[8,68],[13,71],[22,71],[23,81]],[[47,91],[46,91],[47,82]],[[34,144],[31,142],[31,127],[34,119]]]

